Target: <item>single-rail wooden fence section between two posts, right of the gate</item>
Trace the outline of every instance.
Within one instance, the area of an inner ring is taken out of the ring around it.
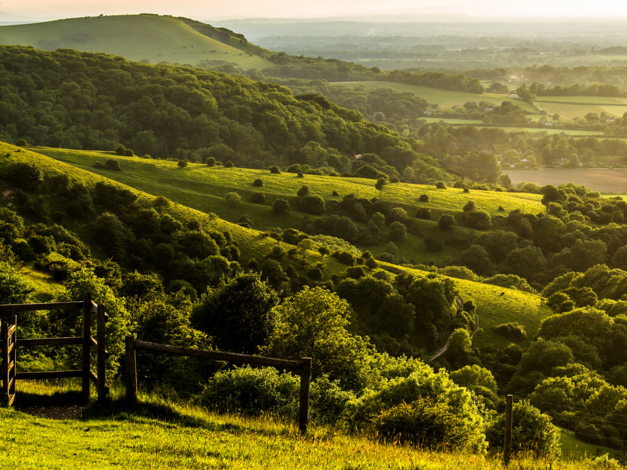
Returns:
[[[292,370],[293,372],[297,372],[300,375],[298,427],[301,432],[307,431],[309,419],[309,387],[312,373],[312,359],[310,357],[303,357],[300,361],[295,361],[221,351],[208,351],[204,349],[183,348],[179,346],[136,341],[134,336],[129,335],[125,338],[126,396],[131,402],[137,399],[137,365],[135,363],[135,351],[137,350],[177,356],[199,357],[225,362],[265,365],[268,367],[276,367],[280,370]]]

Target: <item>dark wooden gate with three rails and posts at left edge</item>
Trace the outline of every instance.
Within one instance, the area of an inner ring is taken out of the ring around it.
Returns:
[[[58,302],[58,303],[26,303],[19,305],[0,305],[0,313],[36,311],[36,310],[72,310],[81,308],[83,310],[83,335],[68,338],[32,338],[18,339],[18,318],[11,316],[9,323],[0,325],[0,353],[2,366],[0,368],[3,382],[0,397],[3,397],[8,405],[15,400],[16,380],[34,379],[66,379],[68,377],[82,377],[82,396],[84,400],[89,399],[90,382],[96,384],[98,391],[98,401],[102,402],[108,394],[108,387],[105,385],[105,360],[108,352],[105,350],[105,323],[108,315],[102,304],[96,305],[92,302],[92,295],[89,292],[83,294],[83,301],[78,302]],[[96,314],[97,330],[96,339],[92,338],[92,313]],[[64,346],[82,345],[82,367],[78,370],[56,370],[51,372],[17,372],[17,349],[33,346]],[[91,348],[96,350],[96,373],[91,368]]]

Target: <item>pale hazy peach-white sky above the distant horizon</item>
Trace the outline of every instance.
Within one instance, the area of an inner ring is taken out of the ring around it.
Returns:
[[[479,16],[627,16],[624,0],[4,0],[0,11],[19,16],[72,18],[159,13],[194,19],[320,18],[386,11]]]

